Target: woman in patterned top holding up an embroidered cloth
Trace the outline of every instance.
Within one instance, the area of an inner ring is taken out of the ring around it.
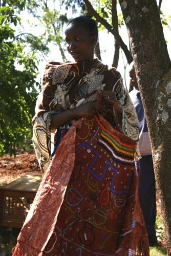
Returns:
[[[13,255],[148,255],[135,195],[134,106],[119,72],[94,59],[94,20],[73,19],[65,35],[75,62],[46,67],[33,141],[47,171]]]

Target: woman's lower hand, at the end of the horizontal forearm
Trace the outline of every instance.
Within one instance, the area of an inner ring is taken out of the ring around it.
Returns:
[[[89,101],[83,105],[78,106],[74,109],[74,115],[77,117],[81,116],[92,116],[95,115],[97,112],[103,112],[103,107],[97,101]]]

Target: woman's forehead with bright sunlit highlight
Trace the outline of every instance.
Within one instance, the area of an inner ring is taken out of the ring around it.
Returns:
[[[71,23],[67,26],[65,30],[66,36],[71,35],[88,35],[88,31],[86,29],[86,26],[81,23]]]

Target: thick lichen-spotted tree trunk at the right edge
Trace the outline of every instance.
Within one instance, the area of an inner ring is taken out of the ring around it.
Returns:
[[[171,248],[171,65],[156,0],[119,0],[151,138],[167,249]]]

